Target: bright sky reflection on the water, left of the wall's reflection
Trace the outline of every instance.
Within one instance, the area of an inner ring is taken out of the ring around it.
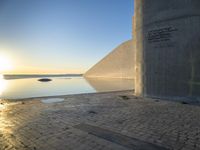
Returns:
[[[0,97],[4,99],[19,99],[95,92],[83,78],[51,79],[51,82],[39,82],[38,78],[4,80],[7,88],[1,93]]]

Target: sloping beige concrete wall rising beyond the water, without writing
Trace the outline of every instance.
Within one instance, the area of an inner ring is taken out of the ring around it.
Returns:
[[[85,74],[87,78],[134,78],[134,48],[129,40],[118,46]]]

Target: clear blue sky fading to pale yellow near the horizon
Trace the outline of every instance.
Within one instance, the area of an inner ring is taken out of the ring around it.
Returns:
[[[0,73],[84,73],[132,37],[133,0],[0,0]]]

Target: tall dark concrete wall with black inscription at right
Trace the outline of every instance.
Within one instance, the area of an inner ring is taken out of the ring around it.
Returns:
[[[199,8],[199,0],[135,0],[137,95],[199,100]]]

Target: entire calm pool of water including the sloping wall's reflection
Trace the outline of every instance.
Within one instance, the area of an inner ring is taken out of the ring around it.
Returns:
[[[19,99],[134,89],[133,80],[85,79],[81,76],[51,77],[51,82],[39,82],[38,79],[23,78],[5,80],[1,77],[0,98]]]

